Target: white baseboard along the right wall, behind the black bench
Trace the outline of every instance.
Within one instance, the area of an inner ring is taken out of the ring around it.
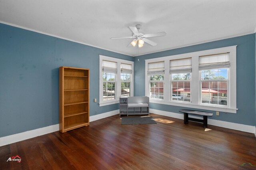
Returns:
[[[160,110],[156,110],[156,109],[150,109],[149,112],[155,113],[157,115],[163,115],[163,116],[167,116],[167,117],[173,117],[173,118],[184,120],[184,115],[179,114],[179,113],[160,111]],[[189,116],[189,117],[202,119],[202,118],[195,117],[195,116]],[[214,119],[208,119],[208,125],[214,125],[217,127],[224,127],[224,128],[234,129],[234,130],[240,130],[243,132],[254,133],[256,136],[256,127],[250,126],[250,125],[243,125],[243,124],[239,124],[239,123],[231,123],[231,122],[226,122],[226,121],[218,121],[218,120],[214,120]]]

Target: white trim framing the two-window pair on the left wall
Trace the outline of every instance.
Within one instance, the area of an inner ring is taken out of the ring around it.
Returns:
[[[113,61],[117,63],[117,73],[116,73],[116,96],[115,100],[111,101],[103,101],[103,79],[102,79],[102,60],[107,60],[107,61]],[[132,65],[132,74],[130,77],[130,96],[133,96],[134,92],[134,62],[133,61],[128,61],[124,59],[118,59],[114,57],[108,57],[104,55],[99,55],[99,105],[101,106],[106,106],[106,105],[113,105],[116,103],[119,103],[119,97],[121,96],[121,63],[125,64],[130,64]]]

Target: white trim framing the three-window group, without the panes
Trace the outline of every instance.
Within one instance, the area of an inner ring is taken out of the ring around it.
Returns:
[[[165,104],[165,105],[174,105],[174,106],[180,106],[180,107],[190,107],[194,109],[205,109],[210,111],[221,111],[226,113],[236,113],[238,110],[236,108],[236,46],[229,46],[229,47],[222,47],[222,48],[216,48],[216,49],[209,49],[204,51],[196,51],[191,53],[183,53],[178,55],[170,55],[166,57],[159,57],[159,58],[153,58],[153,59],[146,59],[145,60],[145,95],[149,96],[149,76],[147,75],[148,71],[148,63],[157,62],[157,61],[164,61],[164,100],[155,100],[150,99],[151,103],[159,103],[159,104]],[[216,53],[225,53],[230,52],[230,68],[228,76],[230,77],[228,82],[228,88],[229,88],[229,96],[230,104],[226,107],[220,107],[220,106],[211,106],[211,105],[202,105],[200,104],[200,71],[198,68],[199,65],[199,56],[201,55],[211,55]],[[174,102],[170,99],[170,74],[169,74],[169,68],[170,68],[170,60],[171,59],[182,59],[192,57],[192,73],[191,73],[191,102],[188,103],[180,103],[180,102]]]

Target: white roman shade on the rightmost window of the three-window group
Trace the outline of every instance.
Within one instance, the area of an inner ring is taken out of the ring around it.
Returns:
[[[229,68],[229,53],[199,56],[199,70]]]

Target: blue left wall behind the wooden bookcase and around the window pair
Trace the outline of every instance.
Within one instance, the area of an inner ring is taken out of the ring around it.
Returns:
[[[99,107],[99,55],[133,57],[0,24],[0,137],[59,123],[60,66],[90,69],[90,115]]]

